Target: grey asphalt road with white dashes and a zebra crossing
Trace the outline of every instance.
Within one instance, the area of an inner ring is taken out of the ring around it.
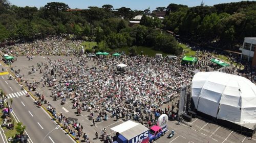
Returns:
[[[2,69],[1,65],[1,69]],[[26,133],[29,135],[30,142],[75,142],[61,128],[55,129],[58,125],[51,120],[51,117],[42,108],[33,104],[33,99],[26,97],[26,91],[20,88],[16,80],[9,80],[8,75],[0,76],[0,88],[4,90],[8,98],[15,119],[26,126]],[[24,94],[25,93],[25,94]],[[7,137],[8,138],[8,137]]]

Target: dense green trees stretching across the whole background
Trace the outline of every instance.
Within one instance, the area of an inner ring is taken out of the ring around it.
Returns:
[[[253,37],[256,31],[256,2],[192,8],[170,4],[156,8],[166,11],[163,22],[148,16],[149,9],[113,9],[112,5],[88,8],[72,10],[64,3],[52,2],[37,9],[0,0],[0,41],[32,41],[49,35],[72,34],[78,39],[98,42],[98,50],[144,45],[181,54],[174,37],[154,29],[170,30],[181,38],[205,44],[227,45],[226,48],[241,44],[244,37]],[[129,27],[128,20],[139,14],[144,14],[140,26]]]

